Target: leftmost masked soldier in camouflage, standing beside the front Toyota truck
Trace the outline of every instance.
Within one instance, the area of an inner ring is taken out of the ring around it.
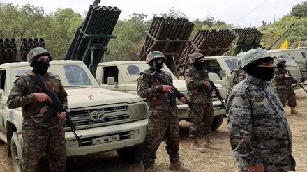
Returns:
[[[31,76],[42,75],[47,88],[54,91],[64,107],[67,107],[67,93],[59,76],[47,72],[52,61],[50,52],[37,47],[27,54],[27,60],[33,70],[17,75],[8,97],[8,108],[22,107],[22,172],[36,171],[40,157],[46,153],[51,171],[63,172],[66,165],[65,138],[61,122],[66,114],[54,114],[50,123],[43,121],[52,100],[43,93]]]

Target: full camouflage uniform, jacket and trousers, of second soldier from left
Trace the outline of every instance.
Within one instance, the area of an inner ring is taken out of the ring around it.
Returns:
[[[145,169],[153,166],[163,136],[166,136],[166,150],[171,162],[179,161],[179,123],[177,105],[170,105],[170,95],[163,92],[163,87],[157,79],[150,77],[153,70],[145,70],[140,74],[137,83],[137,93],[146,98],[149,105],[148,129],[143,158]],[[162,71],[159,75],[172,83],[169,73]]]

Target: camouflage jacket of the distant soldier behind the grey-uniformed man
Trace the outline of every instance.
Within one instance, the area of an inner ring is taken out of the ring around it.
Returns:
[[[274,80],[276,81],[277,89],[293,89],[292,88],[292,79],[286,78],[285,75],[292,75],[290,71],[285,68],[275,68],[274,70]]]

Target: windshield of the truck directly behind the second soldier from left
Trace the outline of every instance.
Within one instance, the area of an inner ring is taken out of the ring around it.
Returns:
[[[146,63],[137,63],[136,65],[134,64],[123,64],[123,77],[124,79],[127,79],[128,82],[133,83],[137,82],[137,79],[139,78],[140,72],[144,72],[144,70],[149,69],[149,65]],[[166,65],[163,65],[163,70],[170,72],[172,75],[172,78],[174,80],[177,80],[177,78],[172,74],[169,68],[166,67]]]

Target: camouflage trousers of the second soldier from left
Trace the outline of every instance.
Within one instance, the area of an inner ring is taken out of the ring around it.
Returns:
[[[179,162],[179,123],[178,116],[170,116],[170,111],[153,114],[149,111],[143,165],[153,167],[163,137],[166,137],[166,150],[171,162]]]

